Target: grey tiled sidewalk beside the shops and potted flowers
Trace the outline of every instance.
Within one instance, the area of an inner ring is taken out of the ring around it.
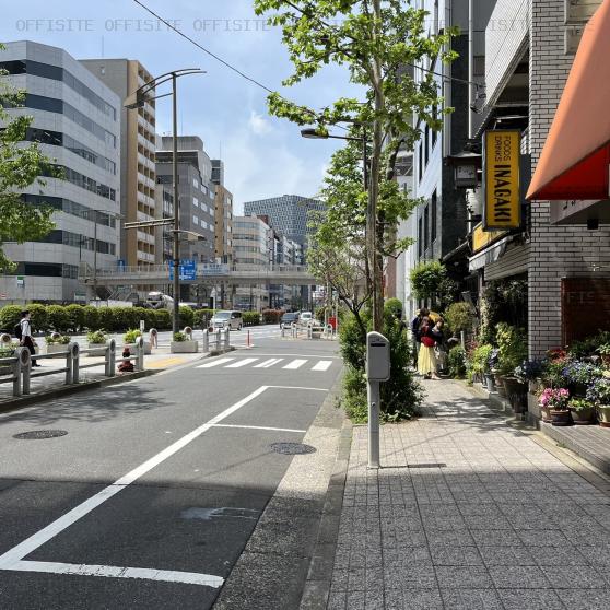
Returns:
[[[610,608],[610,497],[464,386],[425,415],[354,429],[329,610]]]

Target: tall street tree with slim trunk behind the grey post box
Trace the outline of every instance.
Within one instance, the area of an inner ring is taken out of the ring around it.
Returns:
[[[282,28],[294,71],[286,86],[315,77],[326,64],[347,67],[350,80],[362,85],[364,99],[341,97],[321,109],[268,97],[270,112],[297,125],[315,125],[320,134],[332,125],[349,122],[371,137],[371,167],[365,209],[365,257],[369,270],[373,327],[383,325],[383,251],[379,244],[388,219],[379,206],[384,178],[392,179],[398,153],[412,150],[421,125],[437,130],[443,108],[432,66],[451,61],[451,28],[429,34],[427,13],[407,0],[254,0],[257,14],[271,13]],[[413,120],[414,119],[414,120]]]

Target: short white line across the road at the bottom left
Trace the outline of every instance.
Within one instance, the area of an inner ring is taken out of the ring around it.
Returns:
[[[73,574],[77,576],[106,576],[110,578],[142,578],[165,583],[203,585],[218,589],[224,578],[197,572],[176,572],[174,570],[150,570],[148,567],[117,567],[115,565],[84,565],[77,563],[56,563],[50,561],[17,561],[11,570],[17,572],[44,572],[46,574]]]

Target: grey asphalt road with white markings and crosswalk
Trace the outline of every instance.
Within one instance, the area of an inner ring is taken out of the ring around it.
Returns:
[[[255,344],[0,415],[0,608],[212,607],[341,367]]]

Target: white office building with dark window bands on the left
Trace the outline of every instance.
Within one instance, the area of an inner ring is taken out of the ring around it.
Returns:
[[[9,113],[34,117],[27,139],[64,173],[64,179],[45,178],[44,187],[23,192],[33,206],[55,208],[56,228],[39,242],[4,244],[19,279],[0,278],[0,290],[17,303],[84,301],[79,266],[116,266],[119,254],[121,101],[57,47],[9,43],[0,68],[26,92],[25,107]]]

